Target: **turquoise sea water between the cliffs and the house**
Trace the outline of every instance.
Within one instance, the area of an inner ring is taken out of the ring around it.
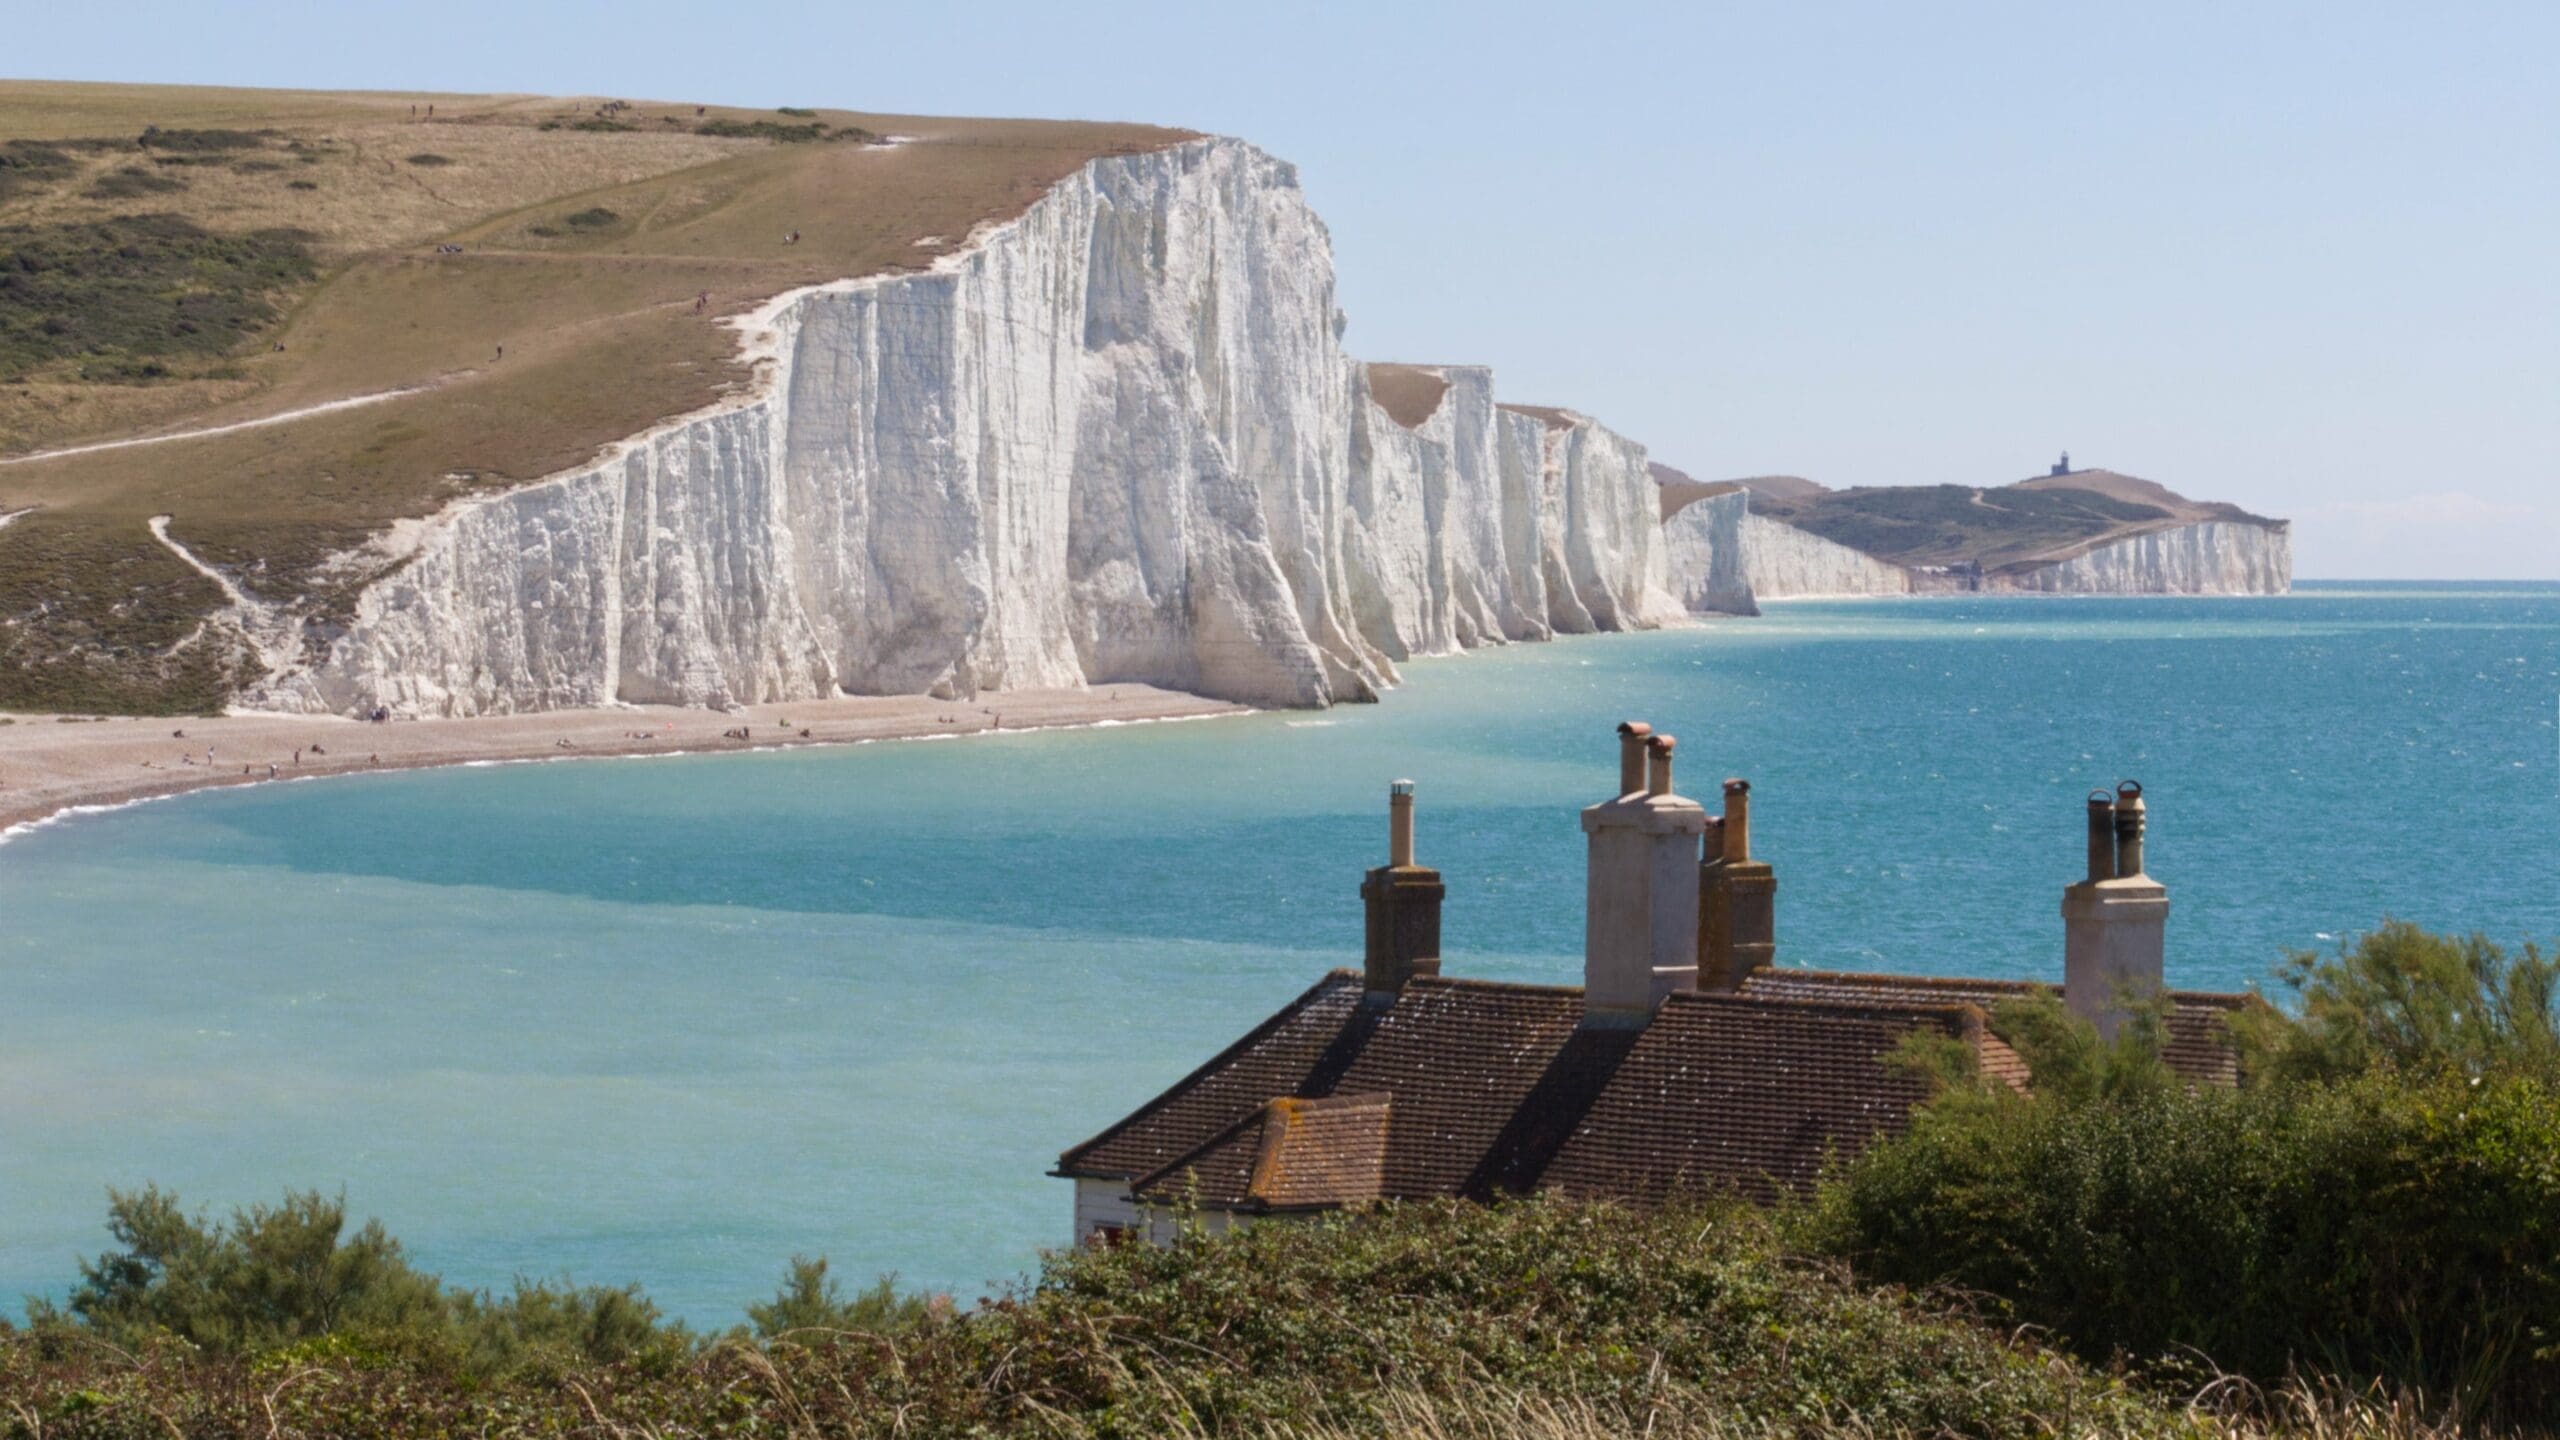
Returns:
[[[2386,912],[2560,933],[2560,587],[1800,602],[1423,661],[1385,705],[197,794],[0,846],[0,1297],[105,1186],[346,1189],[448,1279],[724,1325],[791,1253],[988,1294],[1042,1171],[1357,963],[1421,787],[1449,971],[1580,974],[1628,715],[1754,781],[1779,956],[2056,976],[2140,776],[2171,979]]]

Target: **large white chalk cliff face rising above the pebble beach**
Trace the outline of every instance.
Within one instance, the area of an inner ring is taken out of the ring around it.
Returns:
[[[251,705],[1303,707],[1413,653],[1677,615],[1641,446],[1503,410],[1482,369],[1398,425],[1339,336],[1288,164],[1098,159],[932,274],[771,305],[750,395],[404,525],[407,564]]]

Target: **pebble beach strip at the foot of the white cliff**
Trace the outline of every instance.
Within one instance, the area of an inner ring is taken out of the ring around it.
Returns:
[[[1103,684],[1011,689],[978,700],[865,694],[742,710],[627,705],[384,723],[264,712],[5,715],[0,717],[0,843],[74,810],[115,810],[236,784],[476,764],[1014,735],[1216,715],[1252,715],[1252,710],[1152,684]]]

